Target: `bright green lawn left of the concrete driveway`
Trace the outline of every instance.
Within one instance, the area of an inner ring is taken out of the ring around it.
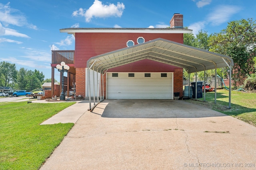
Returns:
[[[72,104],[74,102],[0,104],[0,169],[40,168],[74,125],[40,123]]]

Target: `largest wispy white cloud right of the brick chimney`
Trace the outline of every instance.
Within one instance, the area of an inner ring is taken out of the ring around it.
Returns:
[[[218,6],[208,15],[207,21],[211,23],[211,25],[220,25],[222,23],[227,22],[232,15],[238,13],[241,10],[238,6]]]

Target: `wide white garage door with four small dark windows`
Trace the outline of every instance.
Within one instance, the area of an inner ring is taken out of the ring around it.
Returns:
[[[108,73],[108,99],[173,99],[172,73]]]

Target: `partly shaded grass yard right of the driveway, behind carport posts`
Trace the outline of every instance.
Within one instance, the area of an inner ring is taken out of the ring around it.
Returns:
[[[234,91],[231,92],[231,109],[227,109],[228,107],[228,96],[229,91],[226,89],[217,89],[217,99],[216,104],[214,104],[214,92],[206,93],[206,102],[204,98],[199,98],[198,100],[184,100],[186,102],[202,105],[208,107],[210,109],[219,111],[226,115],[230,115],[236,117],[242,121],[250,123],[251,125],[256,126],[256,93],[242,92],[242,91]],[[204,93],[203,93],[204,97]]]

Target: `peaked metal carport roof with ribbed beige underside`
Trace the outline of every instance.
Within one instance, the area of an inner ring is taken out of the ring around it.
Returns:
[[[182,67],[190,73],[234,65],[226,55],[158,38],[92,57],[87,61],[87,67],[102,73],[143,59]]]

